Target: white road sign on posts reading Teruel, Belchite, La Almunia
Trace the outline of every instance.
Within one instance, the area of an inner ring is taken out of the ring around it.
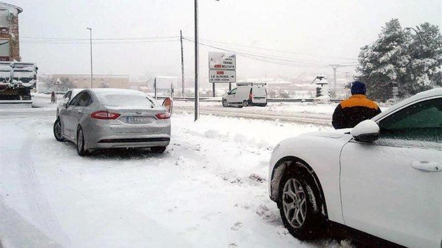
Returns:
[[[237,82],[236,55],[224,52],[209,52],[209,82],[212,83],[213,97],[215,96],[215,83],[229,83],[229,91],[232,83]]]

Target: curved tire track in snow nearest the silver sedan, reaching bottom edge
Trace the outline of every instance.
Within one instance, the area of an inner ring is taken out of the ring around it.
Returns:
[[[19,172],[21,183],[26,195],[26,204],[33,215],[34,220],[45,227],[47,234],[64,246],[70,246],[70,240],[63,232],[60,223],[51,211],[51,206],[44,192],[41,190],[40,181],[35,171],[35,163],[32,159],[32,150],[36,142],[37,134],[27,127],[23,127],[24,121],[19,127],[27,132],[26,140],[20,150]]]

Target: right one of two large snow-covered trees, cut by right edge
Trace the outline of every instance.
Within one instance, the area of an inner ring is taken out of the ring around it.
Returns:
[[[407,83],[399,88],[403,96],[442,86],[442,36],[439,28],[423,23],[410,32]]]

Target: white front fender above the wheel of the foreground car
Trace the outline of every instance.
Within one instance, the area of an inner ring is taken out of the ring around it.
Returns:
[[[281,141],[272,152],[269,166],[269,195],[278,197],[283,167],[280,161],[296,157],[310,166],[325,198],[329,220],[344,224],[340,193],[340,154],[342,147],[352,139],[350,134],[338,132],[307,133]],[[275,168],[275,165],[278,165]]]

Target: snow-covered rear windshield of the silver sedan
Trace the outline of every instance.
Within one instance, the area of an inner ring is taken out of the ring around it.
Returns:
[[[102,95],[100,99],[104,105],[113,107],[151,107],[153,101],[148,96],[133,94]]]

